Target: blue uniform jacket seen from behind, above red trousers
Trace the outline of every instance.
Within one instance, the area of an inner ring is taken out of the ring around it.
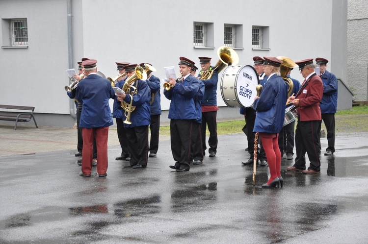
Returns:
[[[81,128],[103,128],[113,124],[108,100],[115,92],[108,79],[90,74],[79,81],[76,99],[83,104],[79,119]]]

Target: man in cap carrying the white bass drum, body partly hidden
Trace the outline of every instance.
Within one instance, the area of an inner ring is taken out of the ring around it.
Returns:
[[[268,76],[265,74],[264,72],[264,66],[263,66],[263,62],[264,59],[259,57],[259,56],[255,56],[253,57],[253,61],[254,61],[254,69],[256,70],[258,76],[259,76],[259,80],[260,80],[260,85],[262,85],[262,87],[264,88],[265,83],[267,81]],[[251,165],[253,164],[254,161],[254,138],[255,138],[255,134],[252,132],[253,128],[254,128],[254,122],[256,121],[256,111],[252,108],[252,107],[247,107],[247,108],[240,108],[240,114],[244,115],[244,119],[245,119],[245,125],[247,126],[247,143],[248,143],[248,152],[250,154],[250,157],[248,159],[248,161],[246,162],[242,162],[242,165]],[[262,142],[260,141],[259,143],[260,145],[260,152],[257,156],[257,159],[259,159],[260,161],[260,165],[261,166],[267,166],[267,158],[266,158],[266,154],[264,152],[263,149],[263,145]]]

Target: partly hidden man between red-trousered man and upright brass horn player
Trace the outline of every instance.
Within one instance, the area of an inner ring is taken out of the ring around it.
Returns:
[[[129,62],[115,62],[115,63],[117,65],[117,70],[119,72],[119,75],[125,73],[124,66],[130,64]],[[118,78],[117,79],[118,82],[115,84],[115,86],[119,87],[120,89],[123,88],[126,77],[127,76],[124,75]],[[124,111],[120,107],[120,104],[121,102],[118,101],[116,97],[114,99],[114,105],[112,109],[112,118],[115,118],[115,121],[116,121],[116,129],[118,133],[119,144],[121,147],[121,154],[120,156],[116,157],[115,160],[130,161],[130,153],[129,153],[128,144],[127,144],[127,134],[126,134],[127,132],[124,128],[124,123],[123,123],[126,117],[125,117]]]

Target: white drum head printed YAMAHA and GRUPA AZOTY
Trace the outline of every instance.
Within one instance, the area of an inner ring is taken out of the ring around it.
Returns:
[[[254,98],[257,96],[256,86],[258,83],[258,74],[252,66],[246,65],[240,69],[236,86],[237,97],[243,107],[251,107],[253,105]]]

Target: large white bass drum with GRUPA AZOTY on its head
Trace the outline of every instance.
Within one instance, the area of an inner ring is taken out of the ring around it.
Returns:
[[[222,99],[229,107],[251,107],[258,84],[258,74],[252,66],[228,66],[221,77]]]

